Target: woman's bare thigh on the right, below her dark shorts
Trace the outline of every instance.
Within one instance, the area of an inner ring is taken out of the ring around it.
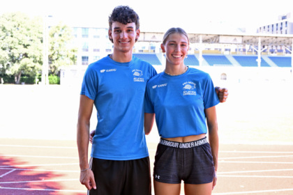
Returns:
[[[209,195],[213,188],[213,182],[206,184],[184,184],[184,192],[186,195]]]

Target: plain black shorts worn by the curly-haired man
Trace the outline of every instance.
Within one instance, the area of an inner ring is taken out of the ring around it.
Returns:
[[[91,158],[91,170],[97,189],[88,194],[98,195],[151,195],[149,157],[133,160]]]

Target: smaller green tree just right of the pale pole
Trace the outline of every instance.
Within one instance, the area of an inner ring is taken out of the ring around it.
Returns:
[[[71,46],[72,30],[65,24],[51,26],[49,31],[49,65],[52,75],[59,73],[61,65],[76,63],[77,49]]]

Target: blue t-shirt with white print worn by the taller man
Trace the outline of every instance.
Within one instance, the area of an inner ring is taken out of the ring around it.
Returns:
[[[106,56],[89,65],[80,94],[94,100],[97,109],[91,157],[129,160],[149,156],[144,135],[144,93],[154,75],[153,66],[135,56],[129,63]]]

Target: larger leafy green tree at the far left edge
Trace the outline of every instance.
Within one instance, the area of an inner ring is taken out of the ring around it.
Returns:
[[[29,18],[24,13],[0,16],[0,71],[14,75],[15,84],[21,76],[35,76],[43,59],[43,29],[40,18]]]

